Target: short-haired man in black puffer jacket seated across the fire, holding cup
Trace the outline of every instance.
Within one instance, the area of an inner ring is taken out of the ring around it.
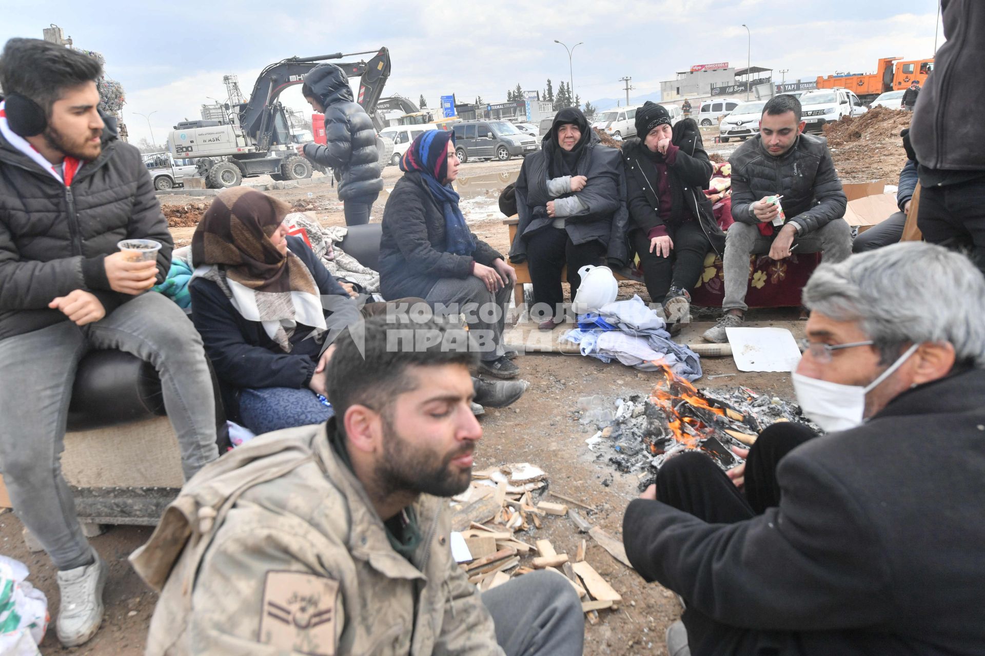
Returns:
[[[759,134],[729,158],[736,222],[726,232],[725,314],[701,335],[708,341],[726,342],[727,328],[743,325],[751,255],[780,261],[794,252],[821,252],[824,262],[835,263],[852,253],[851,228],[842,218],[848,200],[827,140],[802,134],[804,125],[800,101],[777,95],[762,108]]]

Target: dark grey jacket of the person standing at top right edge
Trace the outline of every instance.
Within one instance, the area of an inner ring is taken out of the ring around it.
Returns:
[[[985,171],[985,3],[941,0],[944,44],[917,97],[910,140],[921,166]]]

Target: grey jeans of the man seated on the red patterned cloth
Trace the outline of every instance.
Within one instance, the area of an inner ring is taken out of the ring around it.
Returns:
[[[725,275],[725,298],[723,310],[749,309],[746,305],[746,292],[749,290],[749,257],[769,253],[769,247],[776,237],[774,232],[764,237],[755,225],[733,223],[725,233],[725,257],[722,269]],[[845,260],[852,254],[852,229],[843,218],[828,221],[821,228],[806,235],[794,237],[796,253],[823,253],[824,262],[834,263]]]

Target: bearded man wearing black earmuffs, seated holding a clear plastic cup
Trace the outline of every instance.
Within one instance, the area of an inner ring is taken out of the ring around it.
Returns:
[[[190,478],[218,457],[202,340],[156,292],[171,237],[140,152],[99,113],[99,63],[38,39],[0,57],[0,469],[14,510],[58,568],[58,638],[99,629],[107,566],[61,474],[79,360],[118,349],[152,363]],[[159,242],[128,262],[117,242]]]

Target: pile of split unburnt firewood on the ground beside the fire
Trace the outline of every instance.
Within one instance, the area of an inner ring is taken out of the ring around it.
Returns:
[[[558,554],[550,540],[535,539],[530,544],[517,534],[543,529],[546,522],[566,517],[573,529],[587,533],[631,567],[623,543],[586,518],[594,508],[548,488],[547,473],[528,462],[473,472],[469,489],[451,501],[452,555],[481,591],[537,569],[554,571],[578,593],[589,623],[597,624],[598,611],[618,610],[623,597],[585,562],[587,540],[582,539],[569,555]],[[548,496],[564,503],[545,501]],[[586,516],[569,506],[581,508]]]

